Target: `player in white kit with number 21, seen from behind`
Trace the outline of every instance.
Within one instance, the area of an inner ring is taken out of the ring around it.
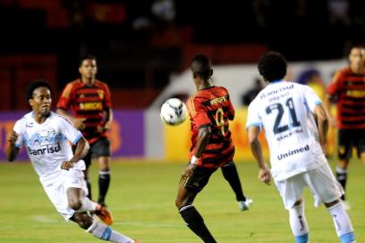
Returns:
[[[325,159],[328,120],[321,100],[309,86],[283,80],[287,61],[278,52],[263,55],[258,69],[268,85],[250,103],[246,128],[260,168],[259,179],[270,184],[273,177],[298,243],[309,242],[302,198],[305,186],[316,206],[325,203],[341,242],[356,242],[352,222],[340,200],[343,188]],[[261,129],[270,148],[271,170],[258,139]]]

